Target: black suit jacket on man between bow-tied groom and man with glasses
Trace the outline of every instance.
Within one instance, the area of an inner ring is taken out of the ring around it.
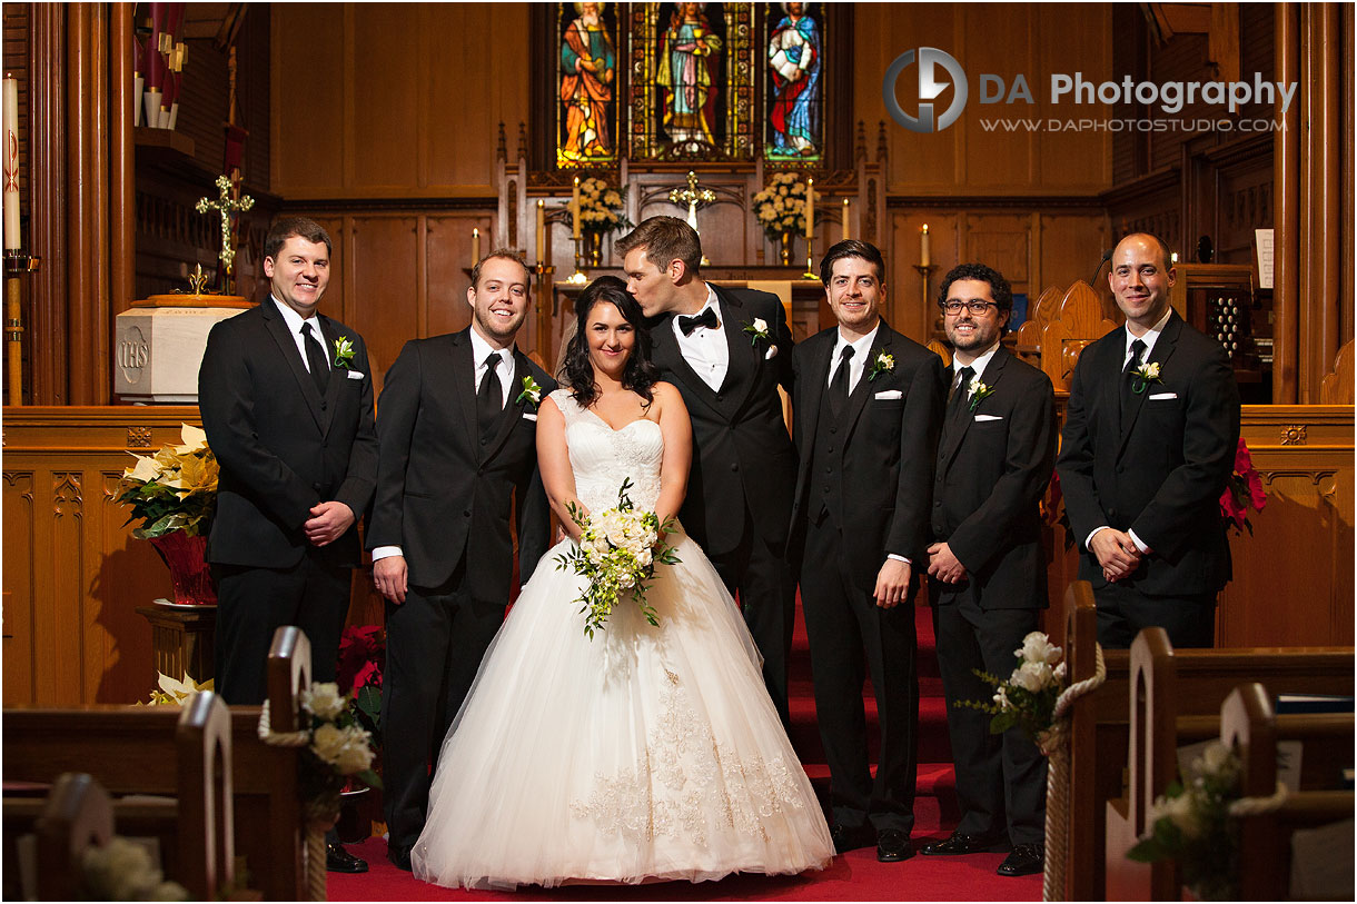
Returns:
[[[829,383],[829,358],[839,327],[821,330],[792,353],[792,410],[801,468],[792,508],[792,544],[799,544],[805,521],[814,514],[806,498],[810,483],[820,400]],[[868,379],[878,356],[894,358],[894,368]],[[896,394],[898,398],[882,398]],[[928,512],[932,498],[934,455],[943,406],[942,358],[892,330],[877,330],[862,379],[840,417],[843,442],[835,466],[843,475],[843,495],[832,495],[830,513],[845,525],[848,567],[859,586],[871,590],[877,574],[894,552],[913,562],[915,574],[927,570]],[[799,559],[792,548],[792,559]]]

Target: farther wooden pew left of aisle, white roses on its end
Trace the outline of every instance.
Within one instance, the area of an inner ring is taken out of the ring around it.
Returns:
[[[288,730],[282,726],[296,723],[299,694],[309,684],[305,635],[296,627],[278,628],[267,668],[274,730]],[[256,706],[229,711],[233,846],[244,858],[248,888],[269,900],[304,900],[309,888],[299,751],[261,741],[259,711]],[[62,772],[84,771],[115,795],[180,794],[174,747],[178,718],[179,709],[168,706],[7,707],[4,780],[50,783]],[[224,855],[218,846],[216,856]]]

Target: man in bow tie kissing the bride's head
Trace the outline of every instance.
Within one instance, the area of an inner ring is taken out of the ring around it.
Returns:
[[[616,243],[627,290],[647,318],[651,358],[692,418],[693,456],[678,520],[706,551],[764,657],[783,725],[797,585],[786,559],[797,452],[778,387],[791,385],[791,331],[768,292],[725,289],[699,273],[702,240],[651,217]]]

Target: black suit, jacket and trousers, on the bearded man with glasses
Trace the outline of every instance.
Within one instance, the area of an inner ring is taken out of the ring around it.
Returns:
[[[989,733],[989,715],[959,709],[993,692],[973,669],[1007,676],[1014,650],[1048,607],[1038,504],[1056,462],[1050,379],[999,346],[978,379],[991,391],[949,409],[938,444],[932,533],[966,567],[930,582],[934,634],[961,801],[958,832],[1012,844],[1045,837],[1046,768],[1019,729]],[[949,385],[951,371],[949,371]]]

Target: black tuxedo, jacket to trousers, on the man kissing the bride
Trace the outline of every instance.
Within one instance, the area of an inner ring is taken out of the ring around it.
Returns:
[[[797,588],[784,548],[797,452],[778,387],[791,387],[791,333],[776,296],[711,288],[730,356],[719,390],[683,357],[673,315],[650,326],[651,358],[678,388],[692,419],[692,468],[678,520],[726,588],[733,595],[738,590],[749,633],[764,657],[764,683],[786,722]],[[754,320],[768,324],[767,339],[744,331]]]

